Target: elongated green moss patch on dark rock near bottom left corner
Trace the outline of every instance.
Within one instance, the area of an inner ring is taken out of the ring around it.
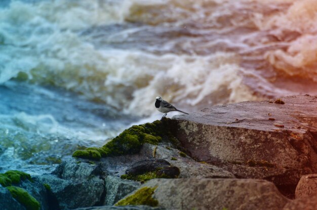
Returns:
[[[24,189],[14,186],[7,187],[7,189],[12,197],[25,206],[26,210],[38,210],[40,208],[39,202]]]

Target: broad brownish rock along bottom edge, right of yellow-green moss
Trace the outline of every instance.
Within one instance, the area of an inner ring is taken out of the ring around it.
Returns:
[[[271,182],[252,179],[153,179],[153,198],[167,209],[280,210],[290,200]]]

